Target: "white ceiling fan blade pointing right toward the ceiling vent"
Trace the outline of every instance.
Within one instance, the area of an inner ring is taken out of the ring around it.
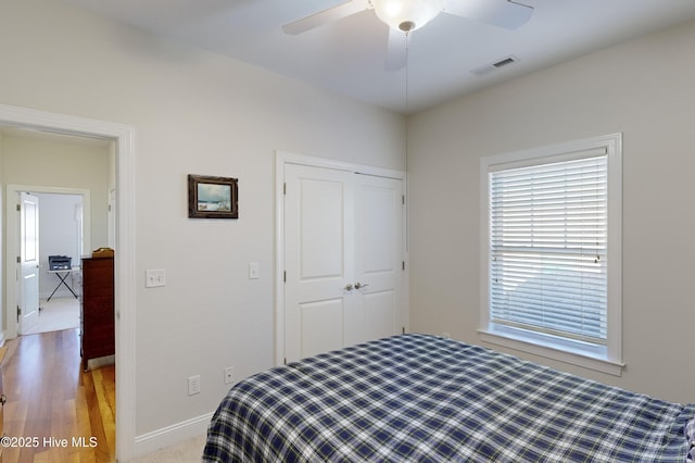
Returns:
[[[533,7],[511,0],[445,0],[442,11],[506,29],[516,29],[531,18]]]

